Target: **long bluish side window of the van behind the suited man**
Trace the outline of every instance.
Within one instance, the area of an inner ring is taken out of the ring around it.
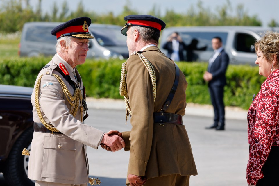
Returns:
[[[211,40],[213,37],[221,37],[223,46],[226,45],[227,32],[180,32],[184,43],[188,46],[193,46],[195,50],[213,51]]]

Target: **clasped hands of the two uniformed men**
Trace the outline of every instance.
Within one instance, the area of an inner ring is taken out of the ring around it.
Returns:
[[[110,130],[105,133],[100,145],[107,151],[115,152],[124,148],[125,142],[121,132],[117,130]]]

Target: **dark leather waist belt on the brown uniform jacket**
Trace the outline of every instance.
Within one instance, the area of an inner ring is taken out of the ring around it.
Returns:
[[[173,123],[173,124],[180,124],[182,123],[182,116],[179,114],[172,114],[167,112],[154,112],[153,113],[154,123]]]

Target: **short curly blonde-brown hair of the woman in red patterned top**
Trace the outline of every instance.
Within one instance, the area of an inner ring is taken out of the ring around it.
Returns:
[[[279,33],[268,31],[265,35],[255,42],[255,50],[262,51],[263,57],[267,59],[270,64],[273,60],[273,55],[277,56],[275,68],[279,68]]]

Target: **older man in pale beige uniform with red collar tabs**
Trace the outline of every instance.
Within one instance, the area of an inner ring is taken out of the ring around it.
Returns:
[[[40,71],[31,96],[34,135],[28,178],[37,186],[86,186],[86,146],[97,149],[103,143],[112,151],[125,146],[119,136],[83,123],[85,87],[76,66],[85,62],[88,39],[94,39],[90,24],[90,18],[79,17],[51,31],[57,38],[57,54]]]

